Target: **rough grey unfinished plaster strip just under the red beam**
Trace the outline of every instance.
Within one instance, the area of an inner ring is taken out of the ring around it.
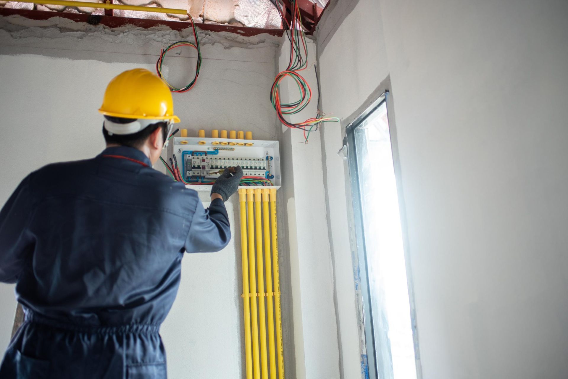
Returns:
[[[243,49],[241,60],[273,64],[263,59],[264,49],[278,49],[281,38],[269,34],[245,37],[230,32],[198,30],[205,60],[231,59],[226,51]],[[114,63],[150,63],[172,41],[193,40],[193,29],[172,30],[165,25],[141,28],[133,25],[110,28],[66,18],[31,20],[20,15],[0,16],[2,55],[38,54],[70,59],[95,59]],[[69,45],[74,48],[70,49]],[[93,55],[93,52],[98,52]],[[118,55],[118,56],[117,56]],[[179,51],[172,57],[195,57]]]

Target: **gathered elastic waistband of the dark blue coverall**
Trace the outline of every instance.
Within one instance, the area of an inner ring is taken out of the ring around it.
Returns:
[[[160,332],[160,325],[155,324],[126,324],[117,326],[81,325],[52,320],[34,313],[31,310],[26,311],[24,323],[41,324],[60,330],[89,334],[158,334]]]

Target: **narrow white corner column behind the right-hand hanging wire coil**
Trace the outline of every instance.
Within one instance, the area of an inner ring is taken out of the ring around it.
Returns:
[[[302,76],[316,83],[312,65],[316,47],[307,40],[308,69]],[[290,61],[290,42],[282,38],[278,56],[279,70]],[[316,88],[312,85],[312,88]],[[314,92],[317,93],[316,91]],[[291,80],[281,82],[282,103],[298,99],[299,92]],[[312,101],[300,113],[290,115],[299,123],[314,117],[318,107]],[[310,134],[304,143],[303,133],[282,125],[282,188],[289,232],[291,290],[294,317],[294,353],[298,379],[339,379],[337,320],[333,302],[333,268],[327,229],[323,165],[320,135]]]

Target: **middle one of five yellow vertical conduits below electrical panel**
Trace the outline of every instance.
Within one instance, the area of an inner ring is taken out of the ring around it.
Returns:
[[[239,132],[239,134],[242,132]],[[266,356],[266,298],[264,292],[264,263],[262,259],[262,190],[254,190],[254,221],[256,223],[256,265],[258,278],[258,318],[260,320],[260,363],[262,379],[268,379]]]

